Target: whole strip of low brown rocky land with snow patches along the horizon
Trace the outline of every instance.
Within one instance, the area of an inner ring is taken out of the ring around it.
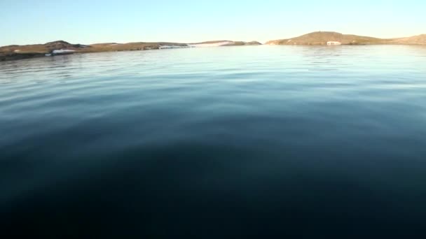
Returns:
[[[262,45],[257,41],[207,41],[202,43],[98,43],[92,45],[54,41],[36,45],[8,45],[0,47],[0,61],[50,57],[91,52],[121,52],[133,50],[159,50],[170,48],[199,48]],[[316,31],[295,38],[268,41],[266,45],[426,45],[426,34],[406,38],[373,38],[340,34],[334,31]]]

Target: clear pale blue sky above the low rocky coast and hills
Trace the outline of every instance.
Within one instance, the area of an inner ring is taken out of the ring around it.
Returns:
[[[426,1],[0,0],[0,45],[260,41],[312,31],[426,34]]]

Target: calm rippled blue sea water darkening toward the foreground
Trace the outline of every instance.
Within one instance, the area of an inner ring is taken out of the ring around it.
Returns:
[[[1,62],[0,215],[53,238],[425,236],[426,48]]]

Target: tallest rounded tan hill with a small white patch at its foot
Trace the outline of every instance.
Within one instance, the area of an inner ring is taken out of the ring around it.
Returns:
[[[327,45],[328,41],[337,41],[343,45],[386,44],[390,40],[369,36],[345,35],[334,31],[316,31],[295,38],[268,41],[267,45]]]

